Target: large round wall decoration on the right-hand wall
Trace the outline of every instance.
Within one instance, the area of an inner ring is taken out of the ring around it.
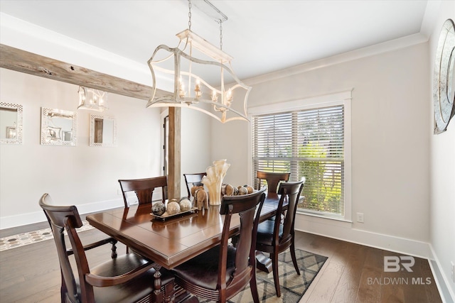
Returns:
[[[450,119],[455,114],[455,26],[447,19],[439,34],[439,42],[434,61],[433,104],[434,133],[446,131]]]

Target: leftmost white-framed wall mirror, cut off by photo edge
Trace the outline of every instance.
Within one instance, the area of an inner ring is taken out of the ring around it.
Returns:
[[[0,102],[0,143],[22,144],[22,105]]]

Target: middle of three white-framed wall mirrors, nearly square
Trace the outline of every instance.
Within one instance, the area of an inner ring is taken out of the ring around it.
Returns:
[[[73,111],[41,108],[41,144],[76,145],[77,114]]]

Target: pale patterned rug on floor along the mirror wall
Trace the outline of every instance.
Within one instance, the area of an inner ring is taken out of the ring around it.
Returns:
[[[93,227],[88,223],[88,221],[82,221],[82,227],[77,228],[77,231],[88,231]],[[66,231],[65,231],[66,234]],[[49,228],[43,228],[38,231],[31,231],[28,233],[19,233],[14,236],[8,236],[0,238],[0,251],[7,250],[11,248],[21,247],[28,244],[33,244],[45,240],[52,239],[52,231]]]

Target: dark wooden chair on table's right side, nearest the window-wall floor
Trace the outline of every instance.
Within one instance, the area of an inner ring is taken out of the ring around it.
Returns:
[[[303,188],[304,181],[279,184],[278,194],[281,196],[274,220],[266,220],[257,227],[256,250],[270,253],[277,297],[281,296],[278,275],[279,253],[290,248],[292,263],[294,263],[297,275],[300,275],[294,244],[294,221],[296,218],[297,204]],[[283,211],[284,202],[286,201],[288,208],[287,211]],[[281,216],[284,216],[284,219]]]

